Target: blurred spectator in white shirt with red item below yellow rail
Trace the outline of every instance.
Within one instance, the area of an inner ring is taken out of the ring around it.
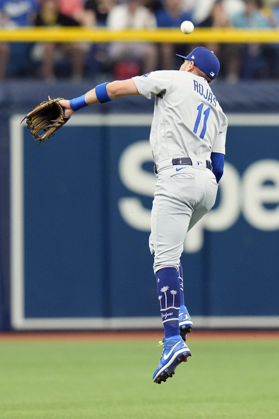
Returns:
[[[143,6],[141,0],[128,0],[114,6],[108,14],[107,26],[110,29],[155,28],[155,16]],[[110,45],[110,58],[115,65],[115,78],[125,79],[156,70],[157,49],[154,44],[113,43]]]

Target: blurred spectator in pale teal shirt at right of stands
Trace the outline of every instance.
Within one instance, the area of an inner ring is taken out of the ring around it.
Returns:
[[[269,28],[267,18],[261,13],[263,0],[245,0],[245,8],[242,12],[233,15],[230,19],[236,28]],[[274,76],[273,68],[277,50],[271,45],[248,44],[235,45],[230,56],[228,79],[237,81],[243,78]]]

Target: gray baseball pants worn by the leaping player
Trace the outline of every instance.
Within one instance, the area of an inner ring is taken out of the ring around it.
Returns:
[[[185,235],[213,207],[218,191],[216,178],[205,164],[203,168],[173,166],[171,160],[157,164],[149,238],[155,274],[168,266],[179,270]]]

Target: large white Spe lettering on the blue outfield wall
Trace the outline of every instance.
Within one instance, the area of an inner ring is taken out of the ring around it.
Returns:
[[[156,178],[143,170],[143,163],[153,161],[149,141],[134,142],[122,153],[119,161],[120,179],[124,186],[138,195],[153,197]],[[231,228],[241,212],[246,221],[259,230],[279,229],[279,161],[258,160],[240,177],[236,168],[225,163],[219,184],[220,202],[190,230],[184,241],[184,251],[195,253],[203,246],[203,232]],[[265,204],[273,204],[272,208]],[[139,196],[119,199],[123,220],[131,227],[150,231],[151,209],[143,206]]]

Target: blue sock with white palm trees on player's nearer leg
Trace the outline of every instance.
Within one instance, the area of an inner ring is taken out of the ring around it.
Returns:
[[[180,282],[175,268],[156,272],[157,292],[165,337],[179,335]]]

